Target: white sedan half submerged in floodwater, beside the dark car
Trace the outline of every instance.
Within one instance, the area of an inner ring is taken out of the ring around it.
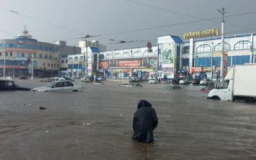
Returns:
[[[82,91],[81,84],[74,84],[70,81],[53,81],[38,88],[33,88],[34,92],[77,92]]]

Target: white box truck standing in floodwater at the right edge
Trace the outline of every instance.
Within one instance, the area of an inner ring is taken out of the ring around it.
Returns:
[[[256,64],[234,65],[207,99],[244,100],[256,104]]]

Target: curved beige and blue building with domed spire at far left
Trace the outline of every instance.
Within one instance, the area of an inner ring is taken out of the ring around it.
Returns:
[[[0,74],[3,76],[5,66],[5,76],[28,76],[32,71],[32,61],[34,76],[60,74],[61,56],[80,53],[80,47],[67,46],[64,41],[56,44],[38,42],[28,35],[25,27],[17,38],[0,40]]]

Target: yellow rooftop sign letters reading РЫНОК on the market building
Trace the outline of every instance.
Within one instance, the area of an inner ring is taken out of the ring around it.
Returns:
[[[219,36],[220,31],[219,29],[210,29],[206,31],[195,31],[195,32],[189,32],[185,33],[183,35],[184,40],[189,38],[201,38],[201,37],[207,37],[207,36]]]

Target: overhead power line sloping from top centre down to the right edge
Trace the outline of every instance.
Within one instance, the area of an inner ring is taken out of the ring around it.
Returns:
[[[171,12],[171,13],[176,13],[176,14],[179,14],[179,15],[184,15],[184,16],[187,16],[187,17],[193,17],[193,18],[195,18],[195,19],[207,20],[207,19],[204,19],[204,18],[202,18],[202,17],[196,17],[196,16],[193,16],[193,15],[185,14],[185,13],[174,12],[174,11],[172,11],[172,10],[166,10],[166,9],[164,9],[164,8],[158,8],[158,7],[156,7],[156,6],[150,6],[150,5],[148,5],[148,4],[138,3],[138,2],[135,2],[135,1],[131,1],[131,0],[125,0],[125,1],[130,2],[130,3],[140,4],[140,5],[142,5],[142,6],[147,6],[147,7],[150,7],[150,8],[157,9],[157,10],[163,10],[163,11],[165,11],[165,12]],[[216,21],[216,20],[209,20],[209,21],[211,21],[211,22],[218,22],[218,21]],[[219,22],[218,22],[218,23],[219,23]],[[228,24],[228,23],[225,23],[225,24]],[[240,26],[240,25],[236,25],[236,24],[228,24],[228,25],[230,25],[230,26],[237,26],[237,27],[241,27],[241,28],[250,28],[250,27]],[[251,29],[256,29],[256,28],[251,28]]]

